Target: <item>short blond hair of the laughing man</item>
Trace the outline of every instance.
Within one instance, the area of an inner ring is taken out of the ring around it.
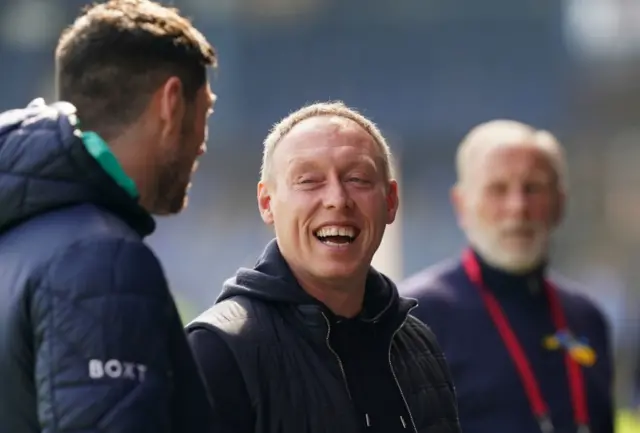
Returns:
[[[271,162],[276,146],[282,139],[303,120],[321,116],[337,116],[357,123],[373,138],[383,160],[385,180],[393,178],[392,154],[387,141],[375,123],[360,114],[357,110],[348,107],[342,101],[316,102],[306,105],[290,113],[288,116],[273,125],[269,135],[264,140],[262,152],[262,167],[260,168],[260,180],[265,182],[271,174]]]

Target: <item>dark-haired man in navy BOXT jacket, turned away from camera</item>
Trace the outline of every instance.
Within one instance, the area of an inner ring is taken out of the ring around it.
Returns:
[[[64,32],[56,63],[65,102],[0,115],[0,430],[208,431],[143,238],[185,205],[216,54],[176,10],[114,0]]]

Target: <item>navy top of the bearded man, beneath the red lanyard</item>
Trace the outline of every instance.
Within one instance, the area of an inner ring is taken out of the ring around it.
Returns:
[[[556,433],[574,433],[565,352],[543,345],[545,337],[555,333],[542,290],[547,270],[540,267],[516,276],[478,259],[485,285],[529,359]],[[558,288],[569,328],[577,337],[586,337],[597,355],[593,366],[583,367],[591,432],[612,433],[612,361],[604,318],[572,283],[555,275],[550,278]],[[416,316],[438,336],[458,392],[463,431],[540,433],[515,365],[461,261],[428,268],[401,283],[399,290],[419,300]]]

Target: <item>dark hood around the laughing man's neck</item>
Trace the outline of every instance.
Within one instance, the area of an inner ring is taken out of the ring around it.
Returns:
[[[234,296],[266,302],[322,306],[300,287],[275,239],[269,242],[253,269],[241,268],[224,283],[216,303]],[[387,312],[406,312],[413,305],[414,300],[400,298],[395,284],[389,278],[370,268],[361,318],[377,320]],[[327,311],[326,308],[324,310]]]

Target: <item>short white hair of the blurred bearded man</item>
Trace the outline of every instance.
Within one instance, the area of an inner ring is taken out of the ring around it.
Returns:
[[[458,184],[464,186],[475,178],[478,162],[496,147],[530,147],[539,149],[553,167],[558,185],[565,189],[564,152],[558,140],[548,131],[508,119],[497,119],[474,127],[464,137],[456,155]]]

